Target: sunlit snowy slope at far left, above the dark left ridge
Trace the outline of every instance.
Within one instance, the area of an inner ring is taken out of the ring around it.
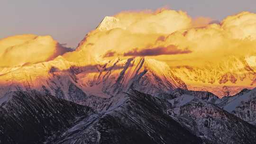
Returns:
[[[10,91],[38,90],[79,103],[87,96],[75,82],[75,75],[65,72],[72,64],[59,59],[10,69],[0,75],[0,98]]]

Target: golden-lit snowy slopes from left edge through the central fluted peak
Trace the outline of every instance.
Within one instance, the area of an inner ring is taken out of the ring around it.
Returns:
[[[131,88],[153,95],[186,89],[167,64],[144,57],[91,66],[79,66],[59,57],[11,69],[0,75],[0,81],[0,98],[9,91],[38,90],[79,104],[92,96],[109,98]]]

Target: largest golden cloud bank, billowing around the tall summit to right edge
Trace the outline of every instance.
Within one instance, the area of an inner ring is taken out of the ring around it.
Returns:
[[[125,11],[104,18],[99,27],[80,43],[76,52],[64,57],[70,61],[83,59],[98,63],[117,55],[151,56],[176,63],[186,59],[188,63],[183,64],[187,65],[193,60],[200,65],[212,59],[218,62],[229,55],[255,55],[255,46],[254,13],[241,12],[217,21],[191,18],[183,11],[159,9]]]

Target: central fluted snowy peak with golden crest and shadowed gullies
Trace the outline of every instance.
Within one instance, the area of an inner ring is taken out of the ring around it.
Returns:
[[[76,75],[82,90],[94,95],[117,95],[131,88],[153,95],[168,93],[175,88],[186,89],[185,83],[171,72],[167,64],[153,59],[116,59],[97,69]]]

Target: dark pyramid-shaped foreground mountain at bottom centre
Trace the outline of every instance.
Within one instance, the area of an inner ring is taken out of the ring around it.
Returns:
[[[136,90],[99,115],[86,118],[49,144],[201,144],[166,114],[165,103]]]

